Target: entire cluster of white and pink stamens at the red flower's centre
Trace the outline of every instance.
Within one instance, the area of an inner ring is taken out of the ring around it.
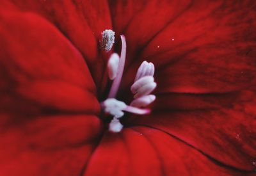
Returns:
[[[137,115],[145,115],[150,113],[150,109],[143,108],[152,103],[155,99],[155,95],[150,93],[156,88],[154,82],[154,64],[143,61],[138,68],[137,74],[134,79],[134,83],[131,86],[131,92],[134,95],[130,105],[125,104],[120,100],[116,100],[116,93],[122,80],[125,56],[126,56],[126,42],[125,36],[121,35],[122,51],[121,55],[113,53],[108,60],[108,76],[113,81],[111,89],[109,91],[108,99],[101,102],[101,107],[105,113],[113,116],[113,119],[109,123],[109,131],[120,132],[123,125],[120,123],[120,118],[124,116],[124,111],[134,113]],[[107,52],[111,50],[115,42],[115,32],[107,29],[102,32],[102,48]]]

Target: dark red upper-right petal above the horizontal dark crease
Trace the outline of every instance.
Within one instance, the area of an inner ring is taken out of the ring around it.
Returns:
[[[148,36],[143,49],[129,57],[132,65],[124,74],[124,87],[128,90],[131,86],[143,60],[155,64],[161,92],[228,92],[248,86],[251,82],[248,80],[255,75],[256,24],[253,17],[256,12],[253,8],[255,1],[195,1],[160,31],[157,25],[147,28],[155,35]],[[147,13],[156,10],[145,8]],[[157,21],[168,17],[172,15],[158,17]],[[145,21],[147,24],[148,20]],[[141,20],[138,28],[143,25]],[[133,31],[130,35],[140,32]],[[144,40],[142,37],[141,42]],[[130,47],[140,48],[138,44],[140,42],[128,44],[128,54],[132,52]]]

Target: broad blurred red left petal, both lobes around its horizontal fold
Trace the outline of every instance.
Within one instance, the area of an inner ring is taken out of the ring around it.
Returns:
[[[102,132],[83,56],[35,13],[0,21],[0,175],[79,175]]]

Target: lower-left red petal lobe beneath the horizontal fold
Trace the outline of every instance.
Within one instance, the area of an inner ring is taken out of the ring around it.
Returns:
[[[21,118],[22,116],[20,116]],[[89,115],[35,116],[3,122],[0,175],[79,175],[99,137],[100,120]]]

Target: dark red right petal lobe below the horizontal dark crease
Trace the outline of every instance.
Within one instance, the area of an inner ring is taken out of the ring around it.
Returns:
[[[256,161],[255,91],[227,94],[163,94],[151,116],[134,124],[161,129],[207,156],[240,170]]]

